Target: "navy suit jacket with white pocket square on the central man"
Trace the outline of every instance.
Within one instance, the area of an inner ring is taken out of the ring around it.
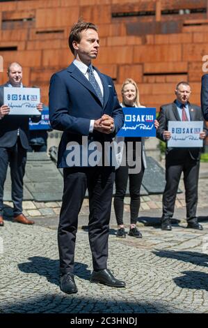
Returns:
[[[97,73],[104,88],[103,105],[88,79],[74,64],[51,77],[49,119],[52,128],[63,131],[58,148],[58,167],[68,167],[65,161],[68,142],[77,142],[80,148],[82,136],[88,136],[89,142],[111,142],[112,137],[122,127],[124,115],[113,81],[111,77],[100,73],[99,70]],[[99,119],[103,114],[113,117],[115,131],[109,135],[97,131],[89,133],[90,119]]]

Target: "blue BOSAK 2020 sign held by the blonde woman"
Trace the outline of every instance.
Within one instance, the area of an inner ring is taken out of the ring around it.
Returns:
[[[155,137],[156,108],[124,107],[122,110],[125,123],[118,131],[118,137]]]

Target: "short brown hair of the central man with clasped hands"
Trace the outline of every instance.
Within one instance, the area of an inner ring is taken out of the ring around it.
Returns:
[[[97,31],[97,27],[95,24],[90,22],[83,22],[82,20],[79,20],[76,24],[72,26],[69,36],[69,47],[72,54],[74,54],[74,47],[72,43],[74,41],[79,42],[81,40],[80,33],[86,29],[94,29],[95,31]]]

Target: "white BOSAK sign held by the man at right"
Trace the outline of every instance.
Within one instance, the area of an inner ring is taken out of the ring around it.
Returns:
[[[168,121],[168,131],[171,133],[168,147],[203,147],[200,140],[203,121]]]

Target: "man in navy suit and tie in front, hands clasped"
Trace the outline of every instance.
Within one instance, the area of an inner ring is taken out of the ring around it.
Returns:
[[[125,287],[125,282],[116,279],[107,269],[114,167],[104,164],[90,166],[89,163],[73,165],[68,151],[74,143],[74,147],[79,146],[81,154],[83,137],[88,147],[90,144],[94,147],[93,142],[94,145],[99,142],[102,147],[105,142],[111,142],[123,124],[122,108],[111,77],[91,65],[99,50],[97,27],[92,23],[78,22],[70,31],[69,45],[74,61],[51,77],[49,89],[51,126],[63,131],[58,149],[58,167],[63,167],[64,179],[58,248],[61,290],[67,294],[77,292],[73,275],[74,248],[78,215],[87,188],[90,207],[88,231],[93,256],[90,281]],[[88,150],[85,154],[88,156]]]

